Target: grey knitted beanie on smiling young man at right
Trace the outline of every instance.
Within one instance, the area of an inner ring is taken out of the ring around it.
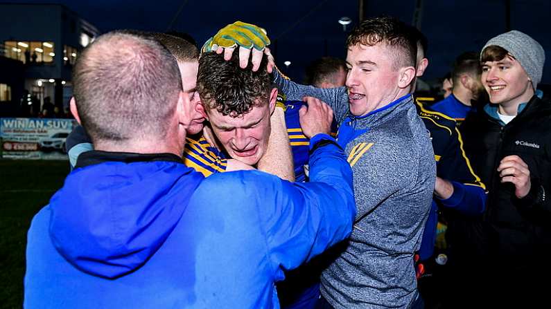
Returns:
[[[536,90],[536,86],[541,81],[541,75],[543,75],[543,63],[545,62],[543,47],[535,39],[518,30],[512,30],[490,39],[482,48],[482,53],[484,49],[492,45],[507,50],[518,60]],[[480,53],[481,56],[482,53]]]

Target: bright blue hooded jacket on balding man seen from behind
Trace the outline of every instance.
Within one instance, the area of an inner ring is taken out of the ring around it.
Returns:
[[[318,147],[310,165],[303,184],[203,178],[167,154],[82,153],[33,218],[24,306],[279,308],[283,271],[346,238],[356,215],[342,150]]]

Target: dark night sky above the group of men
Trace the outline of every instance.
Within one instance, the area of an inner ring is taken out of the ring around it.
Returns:
[[[219,28],[236,20],[257,24],[268,30],[279,68],[298,81],[311,60],[324,55],[345,57],[347,32],[337,22],[340,17],[350,17],[350,26],[358,23],[356,0],[20,2],[62,3],[101,32],[117,28],[188,32],[199,46]],[[365,17],[387,14],[410,24],[416,2],[365,0]],[[534,37],[546,51],[548,61],[542,80],[546,84],[551,84],[550,12],[549,0],[511,0],[511,28]],[[425,79],[441,77],[457,55],[467,50],[479,51],[488,39],[505,32],[505,27],[503,0],[423,0],[421,30],[428,37],[430,60]],[[285,61],[291,62],[287,70]]]

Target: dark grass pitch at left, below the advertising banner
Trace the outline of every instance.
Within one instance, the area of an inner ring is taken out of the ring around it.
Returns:
[[[68,173],[68,161],[0,160],[0,308],[23,305],[30,221]]]

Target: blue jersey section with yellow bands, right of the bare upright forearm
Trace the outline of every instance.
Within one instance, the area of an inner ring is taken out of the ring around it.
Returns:
[[[279,99],[279,98],[278,98]],[[304,166],[308,165],[310,139],[306,138],[300,128],[299,109],[305,105],[302,101],[286,101],[285,122],[291,144],[292,160],[295,163],[295,181],[306,181],[308,176],[304,173]],[[337,124],[333,119],[331,135],[337,133]]]

